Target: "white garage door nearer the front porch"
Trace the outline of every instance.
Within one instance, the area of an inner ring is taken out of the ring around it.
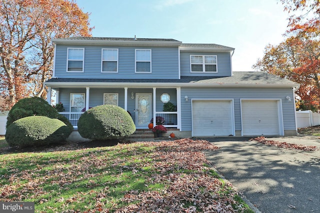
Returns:
[[[230,100],[193,100],[192,135],[233,135],[233,116]]]

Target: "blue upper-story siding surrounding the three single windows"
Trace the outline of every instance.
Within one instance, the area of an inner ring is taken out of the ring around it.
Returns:
[[[84,72],[66,72],[67,48],[84,48]],[[101,73],[101,49],[118,49],[118,72]],[[135,49],[151,49],[152,73],[135,73]],[[177,79],[177,47],[121,47],[56,45],[55,77],[59,78],[157,78]]]

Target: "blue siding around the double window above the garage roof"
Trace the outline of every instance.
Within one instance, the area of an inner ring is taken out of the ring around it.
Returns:
[[[190,55],[216,55],[217,72],[190,72]],[[184,52],[180,53],[181,76],[231,76],[229,52]]]

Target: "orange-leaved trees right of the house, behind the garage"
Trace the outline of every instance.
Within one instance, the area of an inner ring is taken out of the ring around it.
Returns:
[[[320,110],[320,1],[280,0],[289,14],[287,38],[267,45],[252,67],[300,83],[295,94],[306,109]],[[300,13],[300,14],[299,14]],[[307,18],[313,13],[312,18]]]

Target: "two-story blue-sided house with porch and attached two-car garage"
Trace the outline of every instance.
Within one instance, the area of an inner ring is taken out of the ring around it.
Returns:
[[[85,109],[114,104],[130,112],[137,129],[161,116],[181,137],[296,135],[299,84],[264,72],[232,72],[234,48],[112,37],[53,44],[48,102],[55,90],[75,127]],[[163,112],[168,101],[176,111]]]

